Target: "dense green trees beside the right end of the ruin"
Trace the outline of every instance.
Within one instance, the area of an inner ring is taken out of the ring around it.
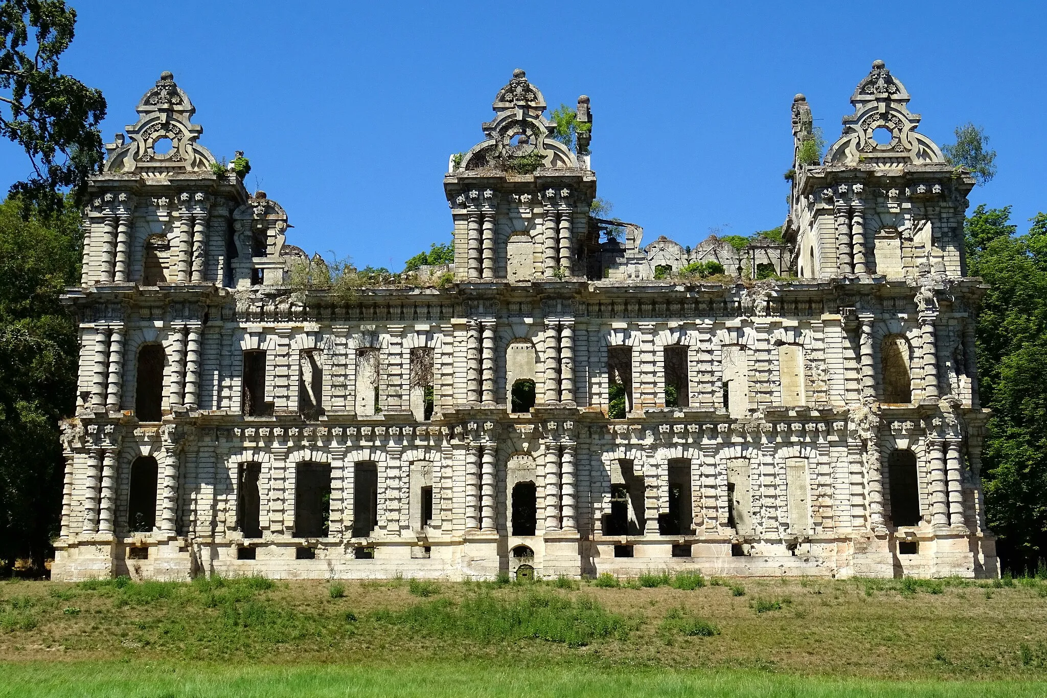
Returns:
[[[979,395],[993,410],[982,452],[988,525],[1003,564],[1047,559],[1047,215],[1016,235],[1010,207],[964,226],[968,275],[989,286],[978,320]]]

